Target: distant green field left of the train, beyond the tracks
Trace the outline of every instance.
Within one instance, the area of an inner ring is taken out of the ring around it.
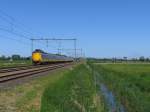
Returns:
[[[30,60],[17,60],[17,61],[9,61],[9,60],[0,60],[0,68],[5,67],[16,67],[16,66],[22,66],[22,65],[31,65]]]

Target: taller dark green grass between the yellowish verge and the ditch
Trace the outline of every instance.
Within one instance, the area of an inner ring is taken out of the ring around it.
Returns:
[[[42,97],[41,112],[102,112],[93,76],[85,65],[76,67],[49,85]]]

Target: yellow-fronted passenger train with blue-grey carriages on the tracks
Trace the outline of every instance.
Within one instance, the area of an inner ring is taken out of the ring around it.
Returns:
[[[32,63],[34,65],[51,64],[51,63],[65,63],[73,62],[72,57],[60,54],[46,53],[41,49],[35,49],[32,52]]]

